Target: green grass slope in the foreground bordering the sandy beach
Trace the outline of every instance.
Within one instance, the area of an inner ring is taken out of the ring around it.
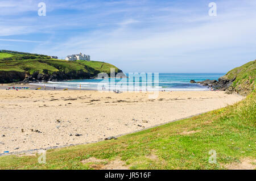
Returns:
[[[121,159],[130,169],[223,169],[242,158],[255,159],[256,93],[245,100],[191,117],[147,129],[118,140],[71,146],[47,151],[47,163],[37,157],[0,157],[0,169],[91,169],[86,158]],[[184,132],[195,131],[191,134]],[[209,163],[209,151],[216,150],[217,164]],[[156,155],[150,159],[148,155]],[[104,164],[105,164],[104,163]]]

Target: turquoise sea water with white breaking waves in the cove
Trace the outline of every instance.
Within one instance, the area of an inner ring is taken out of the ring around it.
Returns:
[[[128,73],[126,74],[129,75]],[[190,80],[204,81],[205,79],[218,79],[224,73],[159,73],[158,78],[152,74],[151,78],[109,78],[109,79],[80,79],[72,81],[36,83],[44,84],[47,87],[67,88],[67,89],[86,89],[86,90],[208,90],[208,87],[201,86],[197,83],[190,83]],[[158,81],[157,81],[158,79]],[[130,82],[129,82],[130,81]],[[129,86],[130,83],[130,86]]]

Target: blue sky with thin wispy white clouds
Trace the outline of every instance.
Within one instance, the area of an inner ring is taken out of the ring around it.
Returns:
[[[0,0],[0,49],[82,52],[127,73],[226,73],[256,59],[255,40],[254,0]]]

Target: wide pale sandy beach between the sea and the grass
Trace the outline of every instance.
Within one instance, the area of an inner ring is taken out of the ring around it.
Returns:
[[[222,91],[5,90],[0,86],[0,154],[101,141],[243,99]]]

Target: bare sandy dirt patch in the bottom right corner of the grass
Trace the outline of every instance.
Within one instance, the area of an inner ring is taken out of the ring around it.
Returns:
[[[240,163],[231,163],[225,167],[229,170],[254,170],[256,169],[256,159],[243,158]]]

